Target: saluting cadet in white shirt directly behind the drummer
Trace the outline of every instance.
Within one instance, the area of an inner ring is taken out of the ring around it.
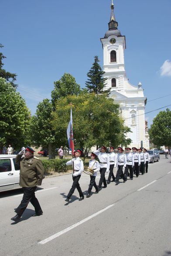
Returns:
[[[100,180],[99,180],[99,186],[98,189],[101,190],[102,183],[104,184],[104,187],[107,187],[106,184],[106,178],[105,178],[105,173],[109,172],[109,155],[106,153],[107,149],[105,146],[102,146],[98,150],[94,151],[94,154],[99,159],[99,165],[100,165]]]

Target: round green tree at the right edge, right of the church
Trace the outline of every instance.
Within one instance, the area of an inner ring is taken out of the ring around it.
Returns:
[[[171,111],[160,111],[149,129],[150,138],[157,147],[171,146]]]

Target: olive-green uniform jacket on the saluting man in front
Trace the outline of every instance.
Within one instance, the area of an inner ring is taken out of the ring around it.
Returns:
[[[44,168],[41,160],[35,156],[23,158],[22,155],[16,156],[16,163],[20,165],[20,186],[35,187],[41,185],[44,178]]]

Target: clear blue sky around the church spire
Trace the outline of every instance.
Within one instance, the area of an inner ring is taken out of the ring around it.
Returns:
[[[1,0],[4,68],[17,73],[17,90],[32,114],[64,73],[83,88],[95,55],[103,65],[100,38],[108,30],[110,5],[111,0]],[[171,104],[171,0],[114,0],[114,6],[126,36],[127,77],[143,84],[145,112]],[[146,114],[149,126],[159,111]]]

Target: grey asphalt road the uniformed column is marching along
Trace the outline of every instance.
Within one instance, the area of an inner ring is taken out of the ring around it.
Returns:
[[[0,256],[171,255],[171,159],[161,155],[148,173],[120,181],[83,201],[75,190],[66,203],[72,176],[46,178],[36,192],[44,214],[31,217],[29,204],[18,223],[10,218],[22,190],[0,193]],[[80,185],[86,195],[89,175]]]

